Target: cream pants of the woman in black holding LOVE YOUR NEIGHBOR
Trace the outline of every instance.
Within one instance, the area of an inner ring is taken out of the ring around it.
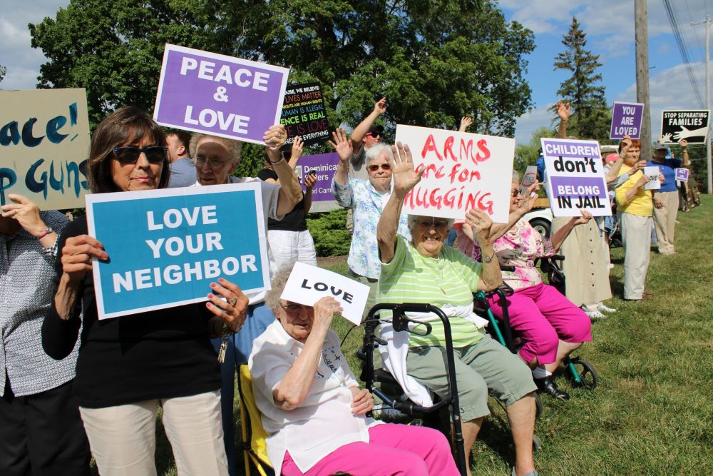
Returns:
[[[155,476],[156,414],[173,448],[178,475],[225,475],[220,391],[105,408],[79,407],[102,476]]]

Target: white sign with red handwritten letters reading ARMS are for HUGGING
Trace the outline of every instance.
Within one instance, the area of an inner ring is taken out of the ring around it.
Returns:
[[[404,201],[404,213],[463,219],[478,208],[508,223],[515,139],[425,127],[396,126],[414,167],[426,168]]]

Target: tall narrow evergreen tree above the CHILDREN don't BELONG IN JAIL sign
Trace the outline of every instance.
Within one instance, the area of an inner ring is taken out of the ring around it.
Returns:
[[[568,101],[574,113],[570,118],[568,132],[580,138],[606,141],[609,137],[611,111],[604,97],[602,75],[597,68],[602,66],[599,55],[585,49],[587,34],[580,28],[575,16],[564,36],[565,51],[555,57],[555,71],[565,69],[572,76],[560,83],[557,94]]]

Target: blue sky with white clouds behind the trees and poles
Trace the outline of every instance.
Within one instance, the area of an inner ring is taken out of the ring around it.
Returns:
[[[0,0],[0,64],[7,75],[4,89],[34,88],[39,66],[45,59],[31,49],[28,23],[39,23],[45,16],[68,4],[67,0],[27,2]],[[563,71],[553,71],[556,54],[563,51],[562,36],[577,16],[587,34],[588,49],[600,55],[602,83],[607,101],[636,101],[633,0],[499,0],[508,20],[516,20],[535,34],[535,51],[528,56],[526,78],[533,89],[533,111],[518,121],[515,139],[529,140],[532,131],[548,126],[548,107],[557,101]],[[689,49],[692,69],[705,101],[704,26],[689,26],[713,14],[713,0],[673,0],[679,29]],[[660,132],[661,111],[665,108],[705,108],[695,96],[681,55],[677,49],[662,0],[650,0],[649,64],[652,136]],[[712,28],[713,29],[713,28]]]

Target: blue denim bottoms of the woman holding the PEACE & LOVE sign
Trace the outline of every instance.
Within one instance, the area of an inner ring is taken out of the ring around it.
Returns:
[[[220,412],[222,413],[223,440],[230,476],[237,476],[235,467],[235,419],[232,409],[235,402],[235,371],[238,365],[247,363],[252,352],[252,341],[265,332],[275,320],[275,314],[264,302],[247,307],[247,318],[239,332],[228,338],[225,362],[220,365],[222,388],[220,389]],[[213,339],[215,350],[220,349],[222,338]]]

